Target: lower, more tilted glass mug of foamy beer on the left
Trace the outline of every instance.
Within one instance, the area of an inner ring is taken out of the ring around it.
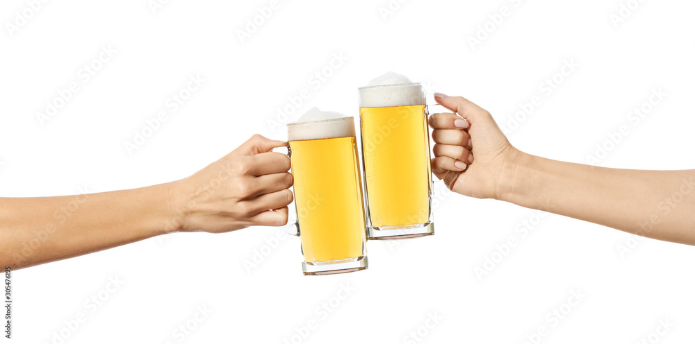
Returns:
[[[304,275],[368,266],[353,117],[309,110],[287,125]]]

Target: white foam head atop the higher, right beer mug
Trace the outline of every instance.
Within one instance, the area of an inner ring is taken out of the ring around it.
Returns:
[[[404,75],[386,72],[359,88],[359,107],[425,105],[425,92],[420,83]]]

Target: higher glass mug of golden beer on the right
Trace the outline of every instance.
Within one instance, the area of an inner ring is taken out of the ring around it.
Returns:
[[[420,83],[359,88],[368,238],[434,234],[430,135]]]

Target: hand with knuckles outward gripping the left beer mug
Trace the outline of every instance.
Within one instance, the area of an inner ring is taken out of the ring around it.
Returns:
[[[170,183],[173,228],[222,233],[252,225],[287,223],[293,178],[284,141],[254,135],[222,159]]]

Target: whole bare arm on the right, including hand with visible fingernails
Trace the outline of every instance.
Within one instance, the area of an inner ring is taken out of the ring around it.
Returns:
[[[489,112],[461,97],[436,100],[466,119],[430,118],[432,169],[453,191],[695,245],[695,170],[607,169],[529,155],[509,144]]]

